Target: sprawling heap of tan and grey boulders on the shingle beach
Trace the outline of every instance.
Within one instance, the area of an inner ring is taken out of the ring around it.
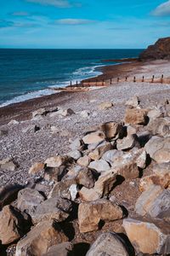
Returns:
[[[2,189],[0,247],[17,243],[16,256],[170,253],[169,106],[143,109],[138,97],[127,106],[124,122],[101,124],[73,140],[67,154],[31,166],[32,179],[52,184],[47,195],[37,182],[10,189],[15,197],[3,204]],[[73,113],[58,112],[32,116]],[[14,169],[10,160],[0,164]]]

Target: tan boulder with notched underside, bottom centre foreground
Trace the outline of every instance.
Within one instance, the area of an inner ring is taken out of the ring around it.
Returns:
[[[78,223],[81,233],[98,230],[100,219],[113,221],[122,217],[122,208],[104,199],[81,203],[78,207]]]

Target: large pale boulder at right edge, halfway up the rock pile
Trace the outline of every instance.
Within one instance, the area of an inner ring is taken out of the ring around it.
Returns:
[[[147,154],[150,154],[150,158],[158,164],[170,161],[170,137],[151,137],[144,148]]]

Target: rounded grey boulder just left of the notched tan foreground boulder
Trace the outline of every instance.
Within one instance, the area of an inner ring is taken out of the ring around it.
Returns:
[[[71,210],[71,201],[61,197],[54,197],[38,205],[36,210],[31,214],[31,218],[34,224],[50,219],[62,222],[69,217]]]

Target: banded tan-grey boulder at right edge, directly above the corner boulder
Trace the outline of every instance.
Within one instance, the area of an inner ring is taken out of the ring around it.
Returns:
[[[135,204],[135,211],[140,216],[150,218],[169,218],[170,212],[170,190],[162,189],[160,186],[151,185],[145,190]]]

